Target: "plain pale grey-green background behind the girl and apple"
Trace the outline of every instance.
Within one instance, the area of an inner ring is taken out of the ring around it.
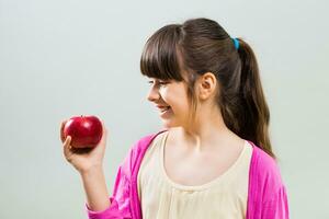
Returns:
[[[139,73],[161,26],[206,16],[250,43],[271,110],[271,137],[292,218],[329,218],[328,1],[0,0],[0,218],[86,218],[59,123],[100,116],[105,176],[161,128]]]

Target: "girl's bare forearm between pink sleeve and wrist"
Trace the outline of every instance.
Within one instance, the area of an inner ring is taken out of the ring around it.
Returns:
[[[87,196],[87,204],[91,210],[101,211],[111,205],[102,168],[80,173]]]

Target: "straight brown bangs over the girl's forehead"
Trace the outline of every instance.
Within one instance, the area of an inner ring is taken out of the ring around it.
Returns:
[[[157,31],[144,47],[140,58],[141,74],[160,80],[182,81],[178,57],[181,37],[178,24],[167,25]]]

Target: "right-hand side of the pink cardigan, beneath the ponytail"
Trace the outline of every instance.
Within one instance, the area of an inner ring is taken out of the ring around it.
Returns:
[[[247,218],[288,218],[286,187],[276,161],[251,145]]]

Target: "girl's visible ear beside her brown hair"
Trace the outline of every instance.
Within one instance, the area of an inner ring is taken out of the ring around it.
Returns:
[[[198,97],[203,101],[215,94],[217,79],[213,72],[206,72],[198,78]]]

